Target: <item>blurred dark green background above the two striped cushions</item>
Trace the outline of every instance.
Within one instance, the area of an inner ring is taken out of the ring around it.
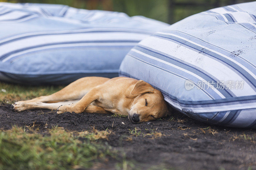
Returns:
[[[169,24],[212,8],[252,2],[250,0],[0,0],[12,3],[64,4],[75,8],[98,9],[142,15]]]

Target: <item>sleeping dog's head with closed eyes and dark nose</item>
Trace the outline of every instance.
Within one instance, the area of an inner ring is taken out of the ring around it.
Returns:
[[[131,122],[152,121],[170,114],[163,94],[145,81],[139,80],[131,94],[138,95],[129,111],[128,118]]]

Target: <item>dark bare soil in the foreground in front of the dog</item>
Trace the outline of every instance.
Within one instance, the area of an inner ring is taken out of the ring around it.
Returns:
[[[135,169],[256,169],[254,129],[217,127],[178,113],[162,120],[132,124],[127,117],[87,113],[57,115],[49,110],[18,113],[12,111],[11,105],[0,106],[1,129],[29,126],[33,122],[41,132],[56,125],[78,131],[93,127],[111,129],[104,142],[125,152],[127,160],[135,160]],[[112,169],[115,162],[101,166]]]

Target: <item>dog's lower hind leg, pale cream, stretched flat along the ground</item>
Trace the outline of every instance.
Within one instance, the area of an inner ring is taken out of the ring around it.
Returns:
[[[49,109],[49,110],[57,110],[60,105],[73,105],[79,100],[71,100],[71,101],[62,101],[57,103],[43,103],[43,102],[20,102],[19,104],[13,105],[13,110],[15,111],[23,111],[30,109]]]

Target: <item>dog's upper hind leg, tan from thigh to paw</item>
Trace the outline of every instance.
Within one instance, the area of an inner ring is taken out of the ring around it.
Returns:
[[[40,96],[31,100],[18,101],[15,104],[30,102],[58,102],[68,100],[80,100],[88,91],[97,85],[101,85],[108,81],[109,78],[103,77],[84,77],[80,78],[58,92],[48,96]],[[15,105],[14,104],[14,105]]]

